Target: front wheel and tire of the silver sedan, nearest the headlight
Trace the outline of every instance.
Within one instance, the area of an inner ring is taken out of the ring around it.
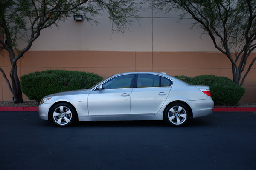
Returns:
[[[52,122],[59,127],[71,126],[77,119],[76,109],[68,103],[58,103],[50,113]]]

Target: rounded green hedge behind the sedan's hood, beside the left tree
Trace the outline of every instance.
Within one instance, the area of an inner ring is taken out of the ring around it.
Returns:
[[[20,85],[30,100],[40,102],[49,94],[90,88],[102,79],[97,74],[81,71],[47,70],[21,76]]]

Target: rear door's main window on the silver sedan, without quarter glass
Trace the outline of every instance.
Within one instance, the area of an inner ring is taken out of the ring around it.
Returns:
[[[151,74],[138,74],[137,88],[159,87],[160,77]]]

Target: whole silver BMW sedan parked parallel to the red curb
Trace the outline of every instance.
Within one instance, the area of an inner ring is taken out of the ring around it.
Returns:
[[[90,89],[45,96],[39,116],[60,127],[76,121],[164,120],[180,127],[212,113],[208,86],[189,85],[165,73],[113,75]]]

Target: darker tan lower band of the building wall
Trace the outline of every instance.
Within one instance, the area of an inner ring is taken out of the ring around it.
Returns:
[[[9,57],[5,56],[0,57],[0,67],[8,74],[10,62]],[[17,67],[19,76],[47,69],[65,69],[93,72],[104,78],[128,71],[154,71],[190,77],[214,74],[232,79],[229,60],[223,54],[215,52],[28,51],[17,62]],[[256,101],[255,75],[256,65],[244,82],[246,94],[241,101]],[[24,95],[23,99],[27,100],[27,97]],[[12,94],[2,74],[0,75],[1,100],[12,100]]]

